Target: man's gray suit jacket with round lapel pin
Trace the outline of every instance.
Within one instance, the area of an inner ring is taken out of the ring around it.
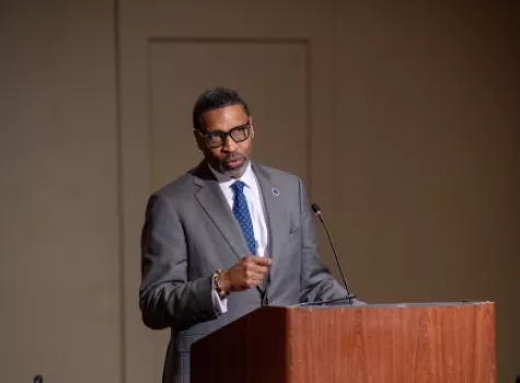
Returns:
[[[221,315],[211,300],[211,274],[251,253],[213,174],[203,162],[149,199],[139,305],[148,327],[171,329],[163,382],[189,382],[190,345],[262,305],[346,297],[317,255],[300,178],[255,163],[253,171],[264,198],[273,266],[263,286],[231,293]]]

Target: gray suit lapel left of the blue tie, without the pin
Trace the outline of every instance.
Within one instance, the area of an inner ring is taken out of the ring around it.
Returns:
[[[220,186],[206,163],[200,164],[194,172],[194,183],[200,188],[195,193],[203,209],[220,231],[236,257],[250,254],[242,229],[236,222]]]

